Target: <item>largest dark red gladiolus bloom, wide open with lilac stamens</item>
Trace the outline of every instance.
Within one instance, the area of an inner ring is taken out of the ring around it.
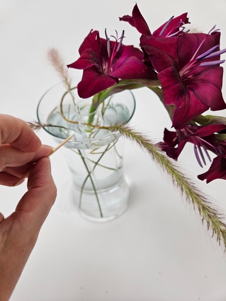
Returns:
[[[222,75],[219,64],[219,32],[210,34],[182,33],[180,38],[145,37],[141,46],[158,72],[164,102],[175,105],[173,124],[183,128],[192,118],[209,108],[226,108],[223,101]]]

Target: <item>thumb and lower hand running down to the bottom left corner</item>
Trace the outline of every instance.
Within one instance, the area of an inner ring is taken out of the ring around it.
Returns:
[[[42,158],[29,176],[28,192],[16,211],[6,219],[0,215],[0,290],[2,292],[4,289],[4,300],[10,298],[55,198],[56,187],[50,172],[50,161]]]

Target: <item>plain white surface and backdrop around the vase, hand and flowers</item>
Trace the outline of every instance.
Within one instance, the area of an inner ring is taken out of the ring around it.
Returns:
[[[139,33],[118,21],[131,14],[134,5],[129,0],[2,0],[1,113],[36,119],[40,97],[59,81],[46,60],[50,47],[72,63],[88,32],[99,30],[104,37],[105,28],[108,35],[125,29],[124,43],[138,46]],[[152,31],[171,16],[188,12],[192,28],[207,33],[216,24],[222,33],[221,48],[226,47],[225,0],[139,0],[138,6]],[[135,96],[132,124],[161,140],[164,127],[171,126],[162,104],[148,89],[135,91]],[[54,146],[44,131],[38,135]],[[209,238],[198,214],[138,147],[125,145],[125,174],[132,189],[129,208],[107,223],[87,221],[75,211],[61,150],[51,162],[58,197],[11,301],[226,300],[225,255]],[[195,181],[208,169],[198,167],[192,145],[186,145],[179,163]],[[196,183],[225,211],[225,181]],[[1,186],[0,211],[11,214],[25,191],[26,183]]]

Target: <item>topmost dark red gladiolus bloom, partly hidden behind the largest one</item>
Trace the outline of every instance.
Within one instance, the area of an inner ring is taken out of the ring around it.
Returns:
[[[128,22],[130,25],[135,27],[140,34],[145,37],[153,36],[155,38],[166,38],[172,36],[178,36],[184,30],[184,24],[190,23],[188,22],[187,13],[184,13],[176,18],[174,16],[170,18],[170,20],[164,23],[160,28],[151,34],[151,31],[146,23],[144,17],[141,15],[138,6],[135,5],[132,17],[129,15],[123,16],[119,18],[120,21]]]

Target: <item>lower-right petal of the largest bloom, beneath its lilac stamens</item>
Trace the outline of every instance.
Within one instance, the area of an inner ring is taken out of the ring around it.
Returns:
[[[202,70],[202,67],[197,69]],[[204,68],[204,70],[189,80],[189,87],[212,111],[226,108],[221,93],[222,75],[222,67],[209,67]]]

